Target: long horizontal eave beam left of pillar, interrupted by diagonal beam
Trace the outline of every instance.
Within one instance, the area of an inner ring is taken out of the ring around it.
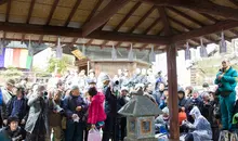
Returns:
[[[21,34],[36,34],[36,35],[53,35],[65,36],[72,38],[83,38],[82,30],[70,27],[60,26],[45,26],[45,25],[29,25],[21,23],[5,23],[0,22],[0,30]],[[98,40],[111,40],[111,41],[125,41],[125,42],[141,42],[141,43],[154,43],[154,44],[167,44],[170,42],[168,37],[158,37],[153,35],[136,35],[125,33],[114,33],[95,30],[87,38]]]

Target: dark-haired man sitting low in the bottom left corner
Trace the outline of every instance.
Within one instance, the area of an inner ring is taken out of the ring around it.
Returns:
[[[9,126],[0,130],[0,141],[22,141],[25,136],[18,127],[17,117],[9,117]]]

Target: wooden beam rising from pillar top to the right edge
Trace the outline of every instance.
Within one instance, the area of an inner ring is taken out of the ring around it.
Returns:
[[[177,42],[177,41],[183,41],[183,40],[187,40],[187,39],[191,39],[191,38],[196,38],[196,37],[200,37],[204,35],[210,35],[210,34],[214,34],[221,30],[235,28],[237,27],[237,25],[238,25],[237,21],[223,21],[214,25],[204,26],[202,28],[195,29],[195,30],[182,34],[182,35],[173,36],[172,41]]]

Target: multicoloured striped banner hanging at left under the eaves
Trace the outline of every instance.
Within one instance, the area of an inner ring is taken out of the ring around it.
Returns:
[[[0,67],[17,67],[30,69],[32,56],[26,49],[4,48],[0,54]]]

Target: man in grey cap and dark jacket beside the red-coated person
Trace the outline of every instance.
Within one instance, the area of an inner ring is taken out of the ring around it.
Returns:
[[[67,117],[66,141],[83,140],[83,116],[88,110],[88,104],[80,95],[79,87],[70,88],[69,97],[64,100],[64,110]]]

